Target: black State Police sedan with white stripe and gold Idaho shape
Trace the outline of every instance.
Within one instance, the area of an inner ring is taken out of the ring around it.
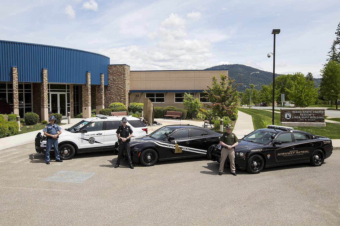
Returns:
[[[194,125],[163,126],[150,135],[130,142],[133,162],[153,166],[157,161],[204,157],[211,159],[212,147],[220,143],[221,133]],[[115,145],[118,153],[118,142]],[[123,157],[127,159],[125,150]]]

